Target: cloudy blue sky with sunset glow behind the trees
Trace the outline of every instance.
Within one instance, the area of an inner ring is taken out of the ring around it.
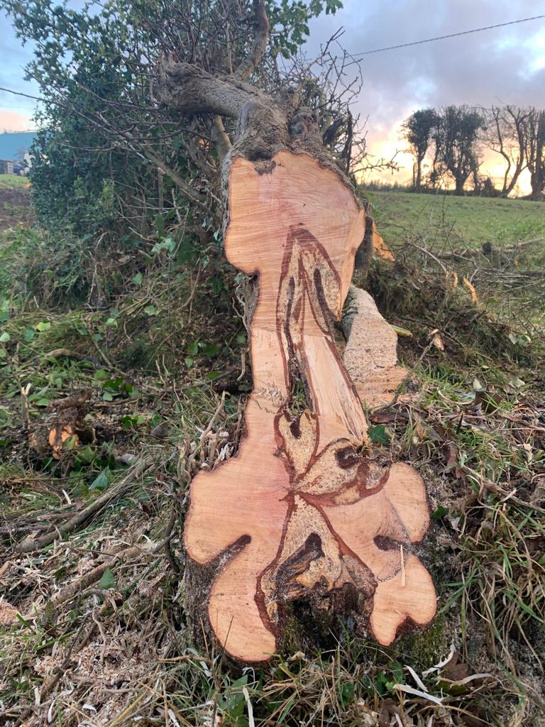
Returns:
[[[545,0],[344,0],[336,15],[312,20],[307,53],[312,57],[341,27],[342,45],[357,55],[533,15],[545,15]],[[30,57],[31,49],[21,46],[9,20],[0,15],[0,87],[36,94],[36,87],[23,80]],[[545,19],[366,55],[361,67],[363,87],[355,111],[368,119],[368,151],[390,157],[397,150],[402,169],[394,178],[407,181],[412,158],[403,153],[399,129],[417,108],[462,103],[545,107]],[[32,129],[33,108],[30,99],[0,92],[0,131]],[[501,174],[493,154],[483,166],[493,176]],[[392,181],[389,174],[374,177]]]

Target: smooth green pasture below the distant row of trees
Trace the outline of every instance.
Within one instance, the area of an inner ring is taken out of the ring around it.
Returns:
[[[545,202],[397,191],[366,196],[380,233],[393,245],[402,243],[408,231],[437,248],[458,249],[545,237]]]

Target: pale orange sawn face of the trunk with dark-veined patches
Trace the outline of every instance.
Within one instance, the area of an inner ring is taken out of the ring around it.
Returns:
[[[331,329],[364,231],[350,189],[314,158],[233,161],[225,250],[259,276],[254,388],[238,455],[191,485],[185,546],[215,563],[209,621],[243,662],[277,651],[294,599],[351,590],[382,644],[435,615],[432,579],[411,552],[429,521],[424,483],[371,458]]]

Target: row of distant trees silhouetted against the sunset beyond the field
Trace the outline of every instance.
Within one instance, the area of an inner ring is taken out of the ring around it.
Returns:
[[[509,196],[525,169],[530,172],[530,199],[545,194],[545,111],[533,107],[491,108],[450,105],[411,113],[402,126],[414,156],[416,191],[450,187],[464,194],[467,186],[483,196]],[[504,161],[500,186],[480,173],[486,150]],[[429,159],[429,172],[424,161]]]

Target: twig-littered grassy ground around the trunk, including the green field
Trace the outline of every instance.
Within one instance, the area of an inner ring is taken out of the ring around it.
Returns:
[[[508,275],[515,312],[544,308],[545,278],[513,272],[544,245],[517,265],[506,251],[543,235],[545,205],[370,197],[397,263],[375,260],[366,287],[410,335],[402,395],[368,411],[368,454],[424,478],[415,553],[437,617],[380,647],[368,603],[338,624],[334,599],[314,622],[288,603],[279,654],[241,669],[204,606],[191,622],[183,545],[192,478],[243,436],[251,371],[230,271],[217,292],[211,266],[195,276],[155,239],[121,257],[22,225],[28,190],[0,188],[0,725],[543,727],[544,336],[500,313]],[[501,254],[480,254],[485,241]]]

